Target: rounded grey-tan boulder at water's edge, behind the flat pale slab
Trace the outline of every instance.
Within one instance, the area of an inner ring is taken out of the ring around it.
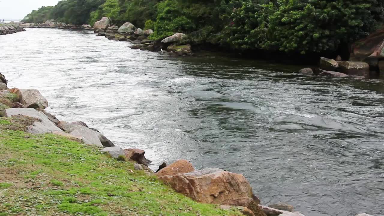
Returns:
[[[48,107],[48,101],[36,89],[20,89],[15,94],[20,98],[20,103],[27,108],[41,108],[44,110]]]

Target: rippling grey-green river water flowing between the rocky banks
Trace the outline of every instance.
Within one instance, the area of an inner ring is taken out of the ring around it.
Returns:
[[[263,204],[307,216],[384,215],[384,82],[226,57],[166,57],[93,32],[0,36],[8,86],[37,88],[154,161],[244,174]]]

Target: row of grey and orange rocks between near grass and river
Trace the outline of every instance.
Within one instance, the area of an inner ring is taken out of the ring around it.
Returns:
[[[65,136],[84,145],[99,146],[101,152],[117,160],[133,163],[135,171],[144,171],[149,176],[156,176],[178,193],[200,203],[217,204],[222,209],[236,208],[248,216],[304,216],[300,212],[295,212],[294,207],[286,203],[262,205],[242,174],[219,168],[195,170],[187,160],[177,160],[169,166],[162,163],[154,172],[148,168],[152,161],[145,158],[145,151],[114,146],[98,130],[89,128],[82,121],[71,123],[60,121],[44,110],[48,107],[48,101],[38,90],[9,89],[7,84],[5,76],[0,73],[1,116],[24,122],[23,130],[28,133],[51,133]],[[134,171],[131,170],[131,172]],[[357,216],[370,215],[358,214]]]

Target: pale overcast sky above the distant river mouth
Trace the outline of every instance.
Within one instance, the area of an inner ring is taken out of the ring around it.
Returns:
[[[55,6],[59,0],[0,0],[0,19],[17,20],[41,6]]]

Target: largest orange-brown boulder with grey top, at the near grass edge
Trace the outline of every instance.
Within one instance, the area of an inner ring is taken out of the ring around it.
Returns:
[[[205,168],[174,176],[166,175],[159,177],[159,179],[169,184],[175,191],[200,203],[249,208],[247,205],[252,197],[252,188],[242,174],[231,173],[218,168]],[[240,203],[239,200],[241,199],[244,199],[246,203]],[[259,209],[258,205],[255,205]]]

